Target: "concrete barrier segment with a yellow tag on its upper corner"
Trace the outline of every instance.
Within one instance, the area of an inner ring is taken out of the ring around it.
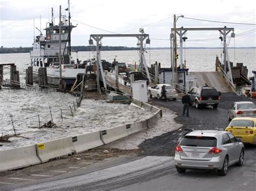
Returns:
[[[72,137],[52,140],[50,142],[37,144],[37,157],[41,162],[46,162],[50,159],[72,154],[75,152],[73,147]]]

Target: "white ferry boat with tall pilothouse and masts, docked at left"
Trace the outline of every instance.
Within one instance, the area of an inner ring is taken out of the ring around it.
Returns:
[[[70,19],[70,13],[69,13]],[[30,52],[30,64],[33,68],[33,81],[38,83],[38,69],[45,67],[47,71],[48,84],[58,85],[60,83],[60,69],[62,83],[71,87],[76,81],[78,73],[84,73],[85,69],[78,68],[78,63],[71,60],[70,36],[76,26],[70,24],[70,20],[62,16],[60,24],[55,25],[52,20],[46,23],[45,36],[40,31],[39,36],[34,38],[33,50]],[[59,47],[59,25],[60,25],[60,47]],[[61,52],[62,68],[59,68],[59,51]]]

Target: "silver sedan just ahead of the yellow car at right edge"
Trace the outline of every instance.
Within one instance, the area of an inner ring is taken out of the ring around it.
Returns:
[[[234,102],[227,115],[230,121],[235,117],[256,117],[256,105],[253,102]]]

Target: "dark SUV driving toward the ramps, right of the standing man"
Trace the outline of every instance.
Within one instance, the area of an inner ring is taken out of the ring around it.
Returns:
[[[213,109],[216,109],[220,102],[220,91],[217,91],[213,87],[193,88],[188,95],[190,95],[191,101],[196,105],[197,109],[200,109],[204,105],[212,105]]]

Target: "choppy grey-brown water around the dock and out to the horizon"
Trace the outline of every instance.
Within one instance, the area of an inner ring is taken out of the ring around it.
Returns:
[[[236,62],[243,62],[248,68],[248,76],[252,76],[252,70],[256,70],[255,56],[256,49],[236,49]],[[218,49],[188,49],[186,50],[186,63],[189,71],[214,71],[215,56],[220,55]],[[234,52],[229,52],[230,60],[234,60]],[[87,60],[95,55],[90,52],[79,52],[79,60]],[[102,59],[112,62],[115,58],[118,61],[134,64],[139,63],[138,51],[111,51],[102,52]],[[170,67],[170,50],[151,50],[145,54],[148,65],[158,61],[161,67]],[[73,55],[76,59],[76,54]],[[0,54],[0,63],[16,63],[20,73],[20,79],[25,81],[25,69],[28,67],[29,53]],[[179,61],[178,61],[179,63]],[[4,69],[4,79],[10,78],[10,70]],[[76,103],[76,97],[70,94],[52,92],[44,93],[40,91],[25,90],[0,90],[0,132],[13,134],[11,117],[14,119],[17,133],[30,139],[10,138],[12,143],[1,143],[0,150],[28,145],[32,143],[42,143],[60,137],[75,136],[85,132],[98,131],[119,124],[140,121],[152,115],[150,112],[142,111],[130,105],[111,104],[104,101],[83,100],[81,108],[72,117],[69,105]],[[41,129],[41,125],[51,120],[49,114],[51,107],[53,121],[59,126],[56,129]],[[64,119],[62,121],[60,109],[63,109]]]

